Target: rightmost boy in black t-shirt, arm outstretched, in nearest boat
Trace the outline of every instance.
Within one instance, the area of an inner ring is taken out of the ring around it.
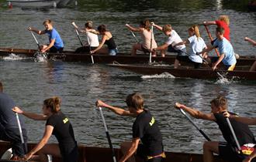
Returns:
[[[218,124],[221,133],[223,134],[226,142],[219,141],[206,141],[203,144],[203,161],[213,162],[213,153],[219,154],[223,160],[232,162],[241,162],[244,160],[244,156],[238,154],[237,145],[235,143],[234,137],[230,131],[227,120],[223,116],[223,112],[227,111],[227,99],[223,96],[218,96],[211,102],[211,113],[203,113],[199,110],[195,110],[189,106],[185,106],[180,103],[175,103],[175,107],[178,109],[185,110],[191,116],[202,119],[214,121]],[[236,115],[235,113],[231,113]],[[249,127],[244,124],[237,122],[234,119],[230,119],[230,123],[234,128],[234,132],[237,136],[237,140],[240,146],[247,143],[255,143],[254,135],[251,133]]]

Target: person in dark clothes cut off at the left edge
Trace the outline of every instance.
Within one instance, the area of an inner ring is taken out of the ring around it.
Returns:
[[[12,112],[12,108],[16,104],[7,94],[3,93],[3,86],[0,82],[0,140],[9,141],[12,147],[12,160],[18,160],[26,154],[26,127],[22,116],[19,121],[22,127],[22,136],[24,139],[24,146],[19,134],[19,126],[16,120],[16,114]]]

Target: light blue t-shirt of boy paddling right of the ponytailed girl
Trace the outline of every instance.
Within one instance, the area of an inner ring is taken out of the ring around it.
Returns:
[[[225,38],[223,38],[222,40],[216,39],[216,41],[213,43],[213,46],[214,47],[218,46],[220,55],[221,54],[225,55],[222,60],[225,66],[232,66],[237,63],[237,59],[234,56],[234,49],[227,39]]]

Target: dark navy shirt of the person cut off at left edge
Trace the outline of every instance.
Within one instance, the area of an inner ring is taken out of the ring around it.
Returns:
[[[5,129],[18,128],[16,114],[12,111],[14,106],[16,106],[16,104],[7,94],[0,93],[0,124],[5,127]],[[22,116],[19,116],[19,121],[22,129],[24,129]]]

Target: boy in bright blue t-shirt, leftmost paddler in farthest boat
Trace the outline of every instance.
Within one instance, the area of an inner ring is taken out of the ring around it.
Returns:
[[[37,30],[29,27],[29,31],[36,32],[36,34],[43,35],[47,34],[49,36],[49,45],[40,46],[41,52],[63,52],[64,43],[61,39],[61,36],[53,27],[53,22],[50,19],[47,19],[43,22],[45,30]]]

